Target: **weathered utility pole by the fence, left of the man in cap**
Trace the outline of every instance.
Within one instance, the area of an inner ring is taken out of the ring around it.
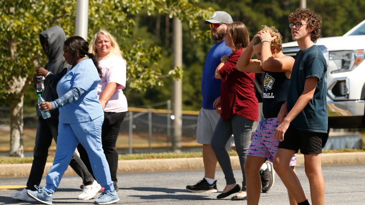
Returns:
[[[181,20],[177,17],[173,18],[173,51],[174,64],[173,67],[183,66],[183,26]],[[172,137],[172,150],[174,152],[181,152],[181,136],[182,136],[182,80],[174,80],[173,90],[173,121],[174,133]]]

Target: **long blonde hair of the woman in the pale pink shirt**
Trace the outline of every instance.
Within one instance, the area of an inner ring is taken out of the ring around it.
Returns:
[[[94,37],[92,38],[91,42],[90,42],[90,46],[89,46],[89,53],[92,53],[96,56],[96,58],[99,58],[99,55],[97,54],[97,50],[96,50],[96,38],[97,36],[99,36],[100,34],[103,34],[104,36],[106,36],[111,43],[111,50],[110,53],[106,56],[104,56],[104,58],[109,57],[110,55],[118,55],[120,57],[123,58],[123,52],[120,50],[118,43],[116,42],[116,39],[113,35],[110,34],[110,32],[105,31],[105,30],[100,30],[99,32],[97,32]],[[124,58],[123,58],[124,59]]]

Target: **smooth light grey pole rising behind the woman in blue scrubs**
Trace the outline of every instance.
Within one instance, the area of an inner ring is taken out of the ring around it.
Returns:
[[[89,1],[77,0],[75,35],[88,40]]]

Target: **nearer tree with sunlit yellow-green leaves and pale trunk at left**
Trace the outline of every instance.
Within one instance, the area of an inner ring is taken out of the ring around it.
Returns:
[[[3,68],[0,75],[0,104],[9,105],[11,109],[11,155],[23,156],[24,94],[32,84],[35,68],[45,65],[47,61],[39,45],[39,33],[56,24],[64,28],[66,37],[73,36],[76,2],[0,0],[0,67]],[[124,58],[128,61],[129,88],[137,90],[162,85],[162,72],[158,67],[161,47],[146,45],[141,39],[130,42],[134,35],[134,18],[142,9],[148,15],[166,13],[169,18],[180,18],[197,38],[202,36],[198,19],[208,18],[211,13],[197,7],[196,1],[187,0],[89,1],[89,38],[103,28],[111,31],[119,42],[129,42],[122,43],[121,47],[127,51]],[[181,77],[181,68],[170,67],[168,76]],[[34,90],[31,92],[34,93]]]

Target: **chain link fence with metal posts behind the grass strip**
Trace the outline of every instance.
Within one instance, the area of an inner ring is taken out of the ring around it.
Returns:
[[[117,140],[116,146],[119,153],[131,154],[171,151],[174,116],[170,107],[171,101],[168,100],[139,108],[128,108],[127,115],[120,127],[120,133]],[[10,109],[8,107],[0,107],[0,132],[5,133],[10,130],[9,113]],[[199,112],[182,111],[182,113],[183,125],[181,142],[183,150],[187,151],[199,148],[201,151],[201,145],[196,143],[197,116]],[[38,121],[35,107],[24,108],[23,121],[24,129],[34,129],[35,138],[35,130],[37,129]],[[24,138],[26,138],[26,136]],[[34,142],[34,138],[28,140]],[[9,137],[5,140],[8,139]]]

